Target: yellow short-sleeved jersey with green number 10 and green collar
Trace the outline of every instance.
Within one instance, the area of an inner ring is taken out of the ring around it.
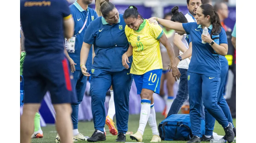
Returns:
[[[143,21],[138,30],[125,26],[125,34],[132,45],[131,74],[143,75],[154,69],[163,69],[159,39],[163,35],[162,28],[157,24]]]

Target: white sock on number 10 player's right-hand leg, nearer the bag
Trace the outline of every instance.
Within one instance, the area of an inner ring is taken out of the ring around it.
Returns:
[[[150,105],[150,114],[148,118],[148,125],[150,126],[153,135],[159,135],[156,124],[156,111],[154,107],[154,103]]]

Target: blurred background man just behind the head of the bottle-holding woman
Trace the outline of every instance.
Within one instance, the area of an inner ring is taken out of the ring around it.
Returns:
[[[214,5],[214,10],[219,14],[220,22],[225,31],[231,31],[231,29],[225,25],[224,20],[228,18],[228,5],[225,2],[217,2]]]

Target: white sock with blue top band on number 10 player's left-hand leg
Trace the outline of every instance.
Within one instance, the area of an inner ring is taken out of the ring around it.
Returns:
[[[150,103],[148,99],[141,99],[140,119],[138,131],[143,135],[150,114]]]

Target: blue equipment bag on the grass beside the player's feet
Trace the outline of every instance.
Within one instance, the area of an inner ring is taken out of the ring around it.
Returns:
[[[205,133],[205,121],[201,122],[201,136]],[[158,125],[162,141],[188,141],[192,136],[189,114],[172,114]]]

